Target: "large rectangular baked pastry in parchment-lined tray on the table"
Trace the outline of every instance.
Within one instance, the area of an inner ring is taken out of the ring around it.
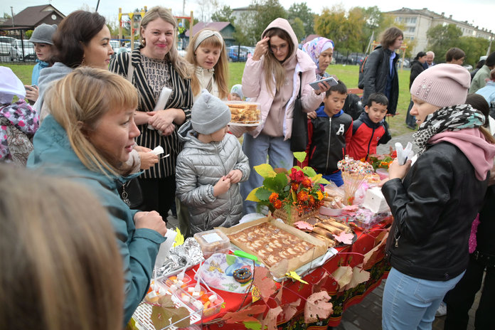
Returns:
[[[314,245],[296,235],[275,227],[270,223],[260,223],[245,228],[239,233],[228,235],[230,241],[248,247],[251,252],[271,267],[284,259],[300,257]]]

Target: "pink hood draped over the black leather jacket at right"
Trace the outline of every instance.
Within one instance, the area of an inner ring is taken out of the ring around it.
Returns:
[[[440,142],[454,144],[467,156],[479,181],[486,179],[486,174],[494,165],[495,145],[486,142],[483,134],[477,128],[442,132],[435,134],[428,142],[431,144]]]

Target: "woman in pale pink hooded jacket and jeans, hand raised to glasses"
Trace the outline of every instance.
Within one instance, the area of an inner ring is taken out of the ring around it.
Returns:
[[[248,58],[243,74],[243,93],[250,101],[261,105],[261,124],[246,132],[245,127],[231,126],[236,136],[244,132],[243,151],[249,158],[251,175],[241,184],[240,193],[245,199],[253,188],[262,186],[262,176],[252,171],[254,166],[268,161],[274,168],[292,167],[290,137],[294,100],[301,89],[302,108],[311,112],[323,101],[329,85],[319,84],[313,90],[310,82],[316,81],[316,65],[307,53],[297,48],[298,42],[287,20],[277,18],[262,33],[255,53]],[[299,79],[299,73],[302,73]],[[256,211],[256,204],[244,201],[243,213]]]

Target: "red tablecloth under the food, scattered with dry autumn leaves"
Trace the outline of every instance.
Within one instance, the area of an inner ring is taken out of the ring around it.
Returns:
[[[385,229],[385,224],[380,223],[375,225],[370,230],[359,231],[356,230],[356,235],[358,239],[353,245],[348,245],[343,248],[338,248],[339,253],[331,257],[324,265],[316,268],[313,272],[303,277],[303,280],[309,284],[303,284],[301,282],[293,282],[292,280],[283,282],[283,292],[282,292],[282,303],[287,304],[289,302],[295,302],[297,299],[301,298],[302,302],[297,307],[297,314],[295,314],[292,319],[287,322],[281,321],[278,325],[279,329],[298,329],[297,324],[304,323],[304,304],[307,297],[312,294],[312,286],[319,282],[319,280],[328,273],[331,275],[339,266],[349,265],[355,267],[363,262],[363,255],[366,252],[373,249],[377,244],[377,236],[382,233]],[[358,304],[361,300],[366,297],[373,289],[380,285],[381,280],[385,279],[390,270],[390,265],[385,260],[384,245],[380,248],[378,257],[376,257],[375,262],[371,267],[368,267],[366,271],[370,272],[370,279],[367,282],[358,284],[358,286],[345,290],[343,292],[338,292],[338,284],[336,281],[329,277],[326,283],[322,287],[331,296],[331,303],[334,305],[334,313],[331,314],[329,319],[317,322],[315,324],[309,324],[306,329],[326,329],[326,326],[338,326],[341,321],[342,313],[353,304]],[[194,277],[192,270],[191,278]],[[278,284],[277,287],[280,287]],[[243,302],[244,294],[234,294],[230,292],[225,292],[222,290],[215,290],[221,297],[225,300],[225,309],[222,309],[220,314],[212,316],[208,319],[203,319],[203,329],[245,329],[243,324],[226,324],[221,320],[221,317],[227,312],[236,312],[240,304]],[[250,294],[245,299],[245,305],[252,302]],[[262,300],[255,302],[255,304],[265,304]],[[276,307],[275,302],[271,304],[268,302],[270,308]]]

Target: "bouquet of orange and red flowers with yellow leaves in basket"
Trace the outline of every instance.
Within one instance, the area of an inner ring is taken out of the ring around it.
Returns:
[[[294,157],[302,162],[306,158],[306,152],[294,152]],[[311,167],[301,169],[294,166],[287,171],[274,170],[270,164],[261,164],[254,169],[264,178],[263,185],[253,189],[246,200],[267,206],[272,212],[283,209],[289,215],[289,223],[292,222],[290,215],[294,208],[300,216],[323,204],[324,184],[329,181],[323,179],[321,174],[316,174]]]

